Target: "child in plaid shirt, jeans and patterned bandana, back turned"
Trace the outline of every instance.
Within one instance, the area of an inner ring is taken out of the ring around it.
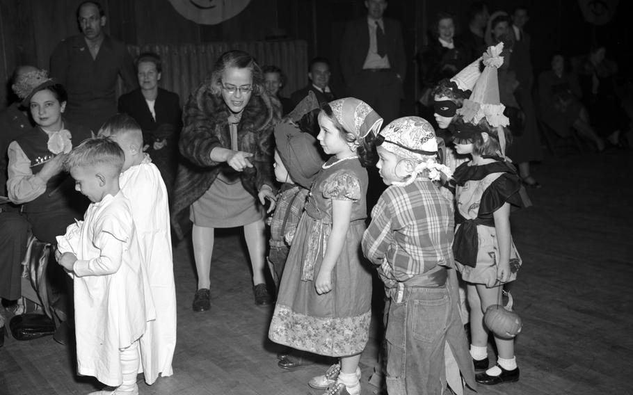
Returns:
[[[453,204],[434,181],[450,170],[438,163],[431,124],[395,120],[376,138],[377,167],[388,186],[371,212],[364,255],[378,265],[387,303],[387,391],[463,394],[474,370],[458,314]]]

